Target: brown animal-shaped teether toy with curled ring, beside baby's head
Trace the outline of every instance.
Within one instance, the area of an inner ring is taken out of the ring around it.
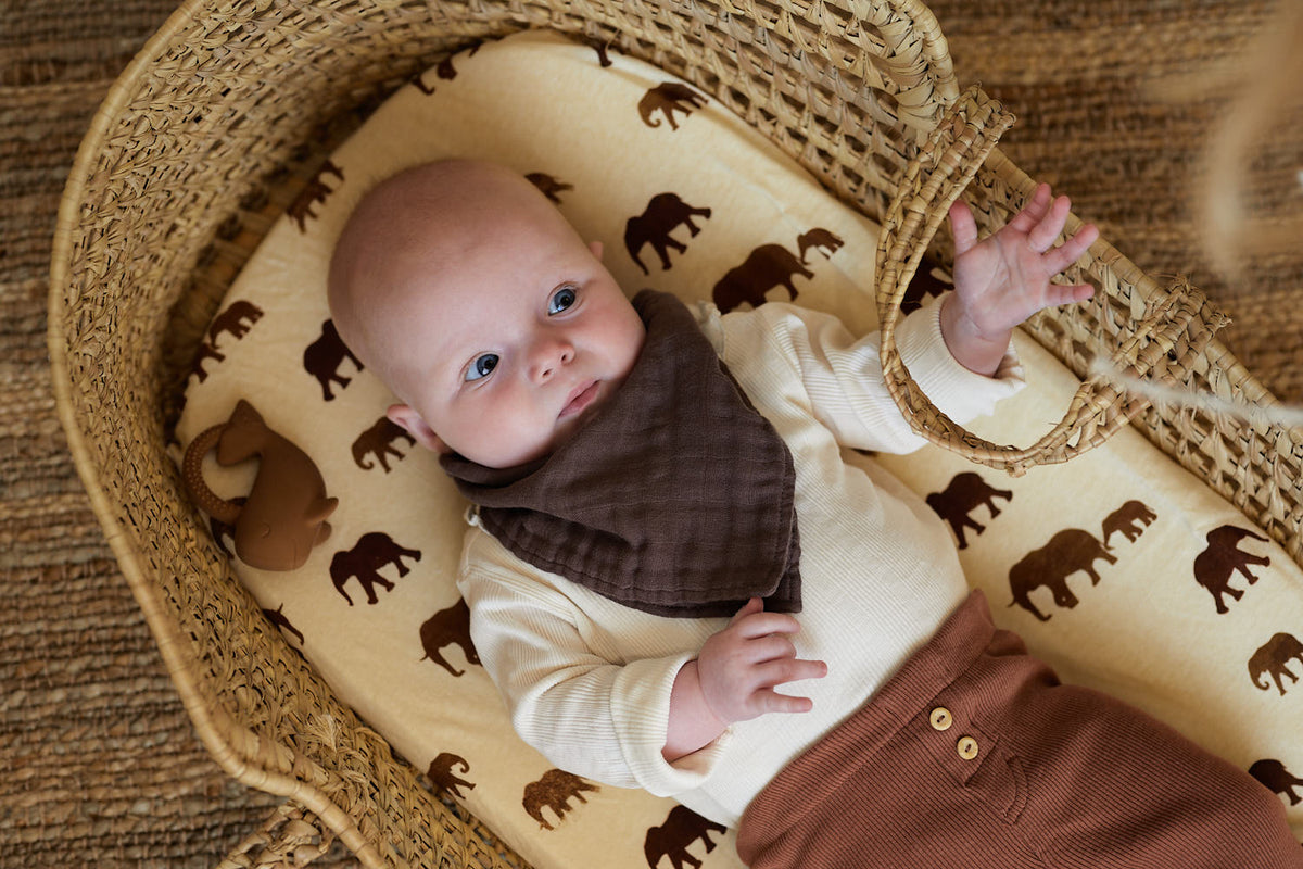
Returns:
[[[258,476],[244,504],[220,498],[205,482],[203,457],[214,447],[220,465],[258,456]],[[181,476],[195,506],[235,529],[236,555],[250,567],[293,571],[330,537],[326,519],[339,499],[326,496],[326,481],[308,453],[268,429],[242,399],[227,422],[190,442]]]

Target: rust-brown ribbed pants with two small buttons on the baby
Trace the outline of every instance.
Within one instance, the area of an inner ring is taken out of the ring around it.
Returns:
[[[756,797],[737,851],[753,869],[1303,869],[1274,793],[1059,684],[980,591]]]

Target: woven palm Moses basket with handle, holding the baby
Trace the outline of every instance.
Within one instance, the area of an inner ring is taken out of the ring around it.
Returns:
[[[321,160],[412,76],[525,27],[687,78],[883,225],[864,281],[880,293],[889,380],[930,438],[1020,473],[1130,422],[1299,559],[1303,448],[1289,431],[1156,409],[1087,378],[1042,442],[1007,447],[917,393],[890,337],[919,257],[946,259],[934,233],[960,192],[990,229],[1033,182],[993,147],[1009,116],[958,93],[946,40],[915,0],[193,0],[82,143],[59,215],[50,350],[78,470],[199,736],[232,776],[287,797],[224,865],[302,865],[336,838],[366,866],[521,865],[266,621],[182,495],[168,442],[219,300]],[[1075,271],[1096,300],[1025,328],[1079,375],[1100,357],[1273,404],[1213,337],[1221,318],[1196,291],[1160,284],[1102,240]]]

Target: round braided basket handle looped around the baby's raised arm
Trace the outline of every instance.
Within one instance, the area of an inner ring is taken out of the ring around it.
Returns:
[[[1023,474],[1038,464],[1067,461],[1092,449],[1127,425],[1144,401],[1102,378],[1081,383],[1063,420],[1031,447],[1001,446],[969,433],[942,413],[909,377],[895,341],[900,304],[924,251],[951,203],[977,175],[1014,117],[977,86],[950,104],[928,142],[906,167],[887,208],[878,241],[876,291],[881,327],[882,374],[887,390],[916,433],[971,461]],[[1070,228],[1074,220],[1070,219]],[[1087,257],[1106,250],[1096,241]],[[1143,377],[1164,363],[1166,353],[1190,327],[1192,309],[1182,304],[1201,296],[1184,280],[1170,287],[1157,304],[1147,305],[1134,334],[1113,354],[1114,367]]]

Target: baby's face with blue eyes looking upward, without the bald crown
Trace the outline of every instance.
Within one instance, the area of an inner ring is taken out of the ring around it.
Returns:
[[[491,231],[469,220],[440,233],[427,262],[412,261],[390,336],[392,386],[438,438],[426,446],[491,468],[559,447],[642,349],[642,321],[601,248],[539,199]]]

